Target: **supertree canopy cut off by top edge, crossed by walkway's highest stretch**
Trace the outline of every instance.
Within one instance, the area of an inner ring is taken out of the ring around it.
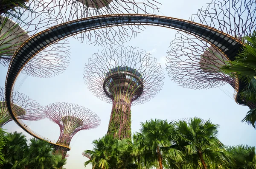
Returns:
[[[158,11],[156,0],[51,0],[44,8],[58,18],[58,23],[107,14],[151,14]],[[136,37],[144,26],[128,25],[84,32],[74,37],[81,42],[108,46],[123,44]]]

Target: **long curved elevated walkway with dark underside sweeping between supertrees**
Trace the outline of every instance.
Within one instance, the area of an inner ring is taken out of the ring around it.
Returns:
[[[5,96],[8,110],[14,120],[16,118],[12,112],[11,107],[12,88],[20,71],[23,69],[24,65],[26,65],[26,63],[29,62],[30,59],[32,59],[32,57],[34,57],[36,54],[38,54],[40,51],[42,51],[44,48],[51,45],[52,43],[58,42],[59,40],[66,37],[73,36],[81,32],[90,31],[93,29],[118,25],[154,25],[184,31],[188,34],[192,34],[202,40],[209,42],[211,45],[221,51],[221,53],[227,56],[230,60],[233,60],[235,58],[236,54],[244,45],[244,43],[239,41],[238,39],[224,32],[218,31],[215,28],[194,23],[192,21],[156,15],[116,14],[84,18],[63,23],[61,25],[56,25],[52,28],[35,34],[33,37],[26,40],[26,42],[20,45],[18,50],[15,52],[14,57],[12,58],[6,76]],[[238,92],[241,91],[238,83],[236,85],[236,90]],[[22,125],[20,125],[19,121],[15,120],[15,122],[21,128],[23,128]],[[23,128],[23,130],[27,131],[25,128]],[[27,132],[31,134],[29,131]],[[36,138],[42,139],[39,136],[34,136]],[[57,145],[57,143],[53,144]]]

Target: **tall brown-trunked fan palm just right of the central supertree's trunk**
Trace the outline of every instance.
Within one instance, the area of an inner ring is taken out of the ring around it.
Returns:
[[[145,152],[151,151],[151,155],[158,161],[159,169],[163,169],[163,163],[166,163],[167,157],[175,161],[182,161],[182,152],[172,147],[172,140],[176,138],[175,127],[172,122],[151,119],[141,123],[141,127],[140,132],[148,146]]]

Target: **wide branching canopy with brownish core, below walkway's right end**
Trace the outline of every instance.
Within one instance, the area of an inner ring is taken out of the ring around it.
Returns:
[[[166,57],[166,70],[174,82],[189,89],[213,88],[227,83],[235,86],[235,79],[220,70],[228,60],[226,56],[192,35],[178,32],[175,36]]]

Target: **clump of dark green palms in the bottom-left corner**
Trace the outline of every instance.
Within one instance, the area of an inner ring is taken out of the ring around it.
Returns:
[[[53,155],[52,146],[42,140],[30,139],[22,133],[6,133],[3,136],[5,161],[0,168],[12,169],[60,169],[65,164],[61,155]]]

